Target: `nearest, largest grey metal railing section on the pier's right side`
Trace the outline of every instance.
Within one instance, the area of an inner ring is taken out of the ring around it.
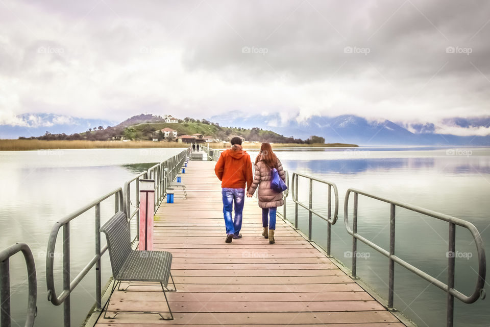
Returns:
[[[350,228],[349,225],[349,217],[348,217],[348,208],[349,208],[349,196],[354,193],[354,212],[353,212],[353,229]],[[366,238],[360,236],[357,233],[357,198],[358,195],[363,195],[372,199],[376,199],[382,202],[386,202],[390,204],[390,235],[389,235],[389,251],[383,249],[377,244],[367,240]],[[429,275],[428,273],[420,270],[419,268],[410,265],[403,259],[400,259],[395,255],[395,210],[396,207],[402,207],[408,209],[410,211],[426,215],[429,217],[433,217],[439,220],[443,220],[449,223],[449,248],[447,252],[448,257],[448,284],[440,282],[435,277]],[[452,217],[449,215],[437,213],[419,206],[411,205],[408,203],[390,200],[382,197],[375,196],[373,194],[369,194],[357,189],[349,189],[346,193],[346,199],[344,202],[344,222],[346,225],[347,232],[351,235],[352,238],[352,275],[356,277],[356,263],[357,263],[357,240],[360,240],[364,244],[370,246],[376,251],[380,252],[384,256],[389,259],[389,285],[388,285],[388,308],[393,308],[393,295],[394,295],[394,279],[395,279],[395,263],[398,263],[400,266],[408,269],[419,277],[424,278],[426,281],[431,283],[432,285],[437,286],[443,291],[447,292],[448,296],[448,307],[447,307],[447,326],[451,327],[453,325],[453,317],[454,317],[454,297],[464,303],[473,303],[479,297],[484,298],[485,291],[483,289],[485,284],[485,275],[486,275],[486,259],[485,259],[485,249],[483,247],[483,241],[481,239],[481,235],[478,229],[470,222],[462,220],[460,218]],[[470,296],[464,295],[463,293],[457,291],[454,288],[454,280],[455,280],[455,243],[456,243],[456,225],[464,227],[468,229],[473,236],[473,240],[476,245],[476,250],[478,254],[478,278],[475,287],[475,291]]]

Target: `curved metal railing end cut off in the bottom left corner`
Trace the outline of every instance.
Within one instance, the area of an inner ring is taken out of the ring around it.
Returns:
[[[15,243],[0,251],[0,325],[10,327],[10,257],[21,251],[27,266],[27,277],[29,281],[29,295],[27,304],[27,315],[25,327],[32,327],[37,315],[37,279],[36,264],[32,251],[26,243]]]

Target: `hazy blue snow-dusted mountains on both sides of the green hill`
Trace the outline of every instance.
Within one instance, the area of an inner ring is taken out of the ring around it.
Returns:
[[[126,127],[145,119],[160,120],[149,115],[133,116],[117,123],[113,121],[82,119],[56,114],[22,114],[10,124],[0,125],[0,138],[40,136],[46,131],[56,133],[80,133],[99,126]],[[153,118],[152,118],[153,117]],[[369,120],[361,116],[345,114],[334,117],[315,115],[300,120],[298,117],[282,120],[279,113],[247,115],[232,111],[226,115],[214,115],[208,121],[220,126],[262,128],[284,136],[306,139],[311,135],[325,137],[327,143],[350,143],[361,146],[376,145],[448,145],[490,146],[490,116],[480,118],[448,118],[435,123],[392,122]],[[156,121],[155,121],[156,122]],[[118,124],[118,125],[117,125]],[[450,131],[450,132],[448,132]],[[454,133],[452,133],[454,131]]]

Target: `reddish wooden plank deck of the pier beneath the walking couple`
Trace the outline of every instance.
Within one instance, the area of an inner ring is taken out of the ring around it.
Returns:
[[[155,216],[154,248],[173,253],[177,292],[167,293],[174,320],[121,313],[97,327],[284,326],[403,327],[371,295],[313,247],[290,224],[277,220],[276,244],[261,237],[261,210],[247,198],[243,238],[225,243],[220,182],[213,161],[190,161],[176,192]],[[116,291],[109,311],[164,311],[161,288],[131,284]],[[124,285],[123,285],[124,286]]]

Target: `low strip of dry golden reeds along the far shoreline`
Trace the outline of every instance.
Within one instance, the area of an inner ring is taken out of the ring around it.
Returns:
[[[244,143],[248,149],[260,148],[261,143]],[[186,148],[190,144],[177,142],[152,141],[45,141],[39,139],[0,139],[0,151],[27,151],[27,150],[58,150],[58,149],[135,149],[135,148]],[[201,144],[200,144],[201,145]],[[225,149],[229,144],[206,144],[214,149]],[[338,148],[357,147],[355,144],[328,143],[328,144],[295,144],[274,143],[273,148]]]

